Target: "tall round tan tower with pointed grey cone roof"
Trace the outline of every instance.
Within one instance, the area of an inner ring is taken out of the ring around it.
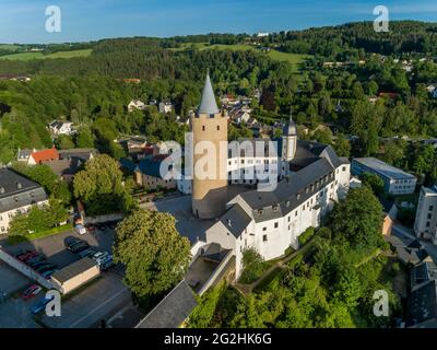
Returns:
[[[191,116],[191,131],[193,151],[200,142],[211,142],[209,149],[202,149],[202,144],[198,151],[201,154],[193,154],[192,212],[201,219],[217,218],[225,211],[227,201],[227,115],[218,110],[209,74],[200,107]],[[208,165],[203,165],[206,161]],[[208,176],[196,171],[200,164],[202,170],[208,170]]]

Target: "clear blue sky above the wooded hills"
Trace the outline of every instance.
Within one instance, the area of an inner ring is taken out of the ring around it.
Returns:
[[[107,37],[259,33],[390,20],[436,22],[435,0],[0,0],[0,43],[45,44]],[[46,8],[61,11],[61,32],[46,31]]]

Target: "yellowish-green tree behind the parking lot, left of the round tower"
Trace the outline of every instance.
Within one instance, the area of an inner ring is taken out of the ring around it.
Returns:
[[[74,176],[73,188],[74,197],[84,202],[90,214],[128,212],[133,207],[119,165],[107,154],[87,161],[85,168]]]

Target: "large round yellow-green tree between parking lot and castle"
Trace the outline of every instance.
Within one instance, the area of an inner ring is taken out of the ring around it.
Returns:
[[[126,266],[125,282],[138,298],[172,289],[190,259],[190,243],[168,213],[139,209],[117,226],[114,260]]]

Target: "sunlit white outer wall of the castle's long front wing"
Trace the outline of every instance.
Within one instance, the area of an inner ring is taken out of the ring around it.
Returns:
[[[241,196],[237,196],[229,201],[228,206],[240,206],[251,218],[250,222],[239,236],[235,236],[231,232],[234,224],[231,220],[229,222],[218,221],[206,231],[206,242],[218,243],[223,248],[233,249],[238,278],[243,271],[243,253],[246,248],[253,247],[264,260],[281,257],[288,247],[297,249],[298,236],[310,226],[318,228],[320,219],[332,210],[333,203],[345,197],[350,178],[350,164],[341,164],[328,176],[326,186],[314,192],[305,202],[284,217],[267,221],[257,222],[249,203]]]

